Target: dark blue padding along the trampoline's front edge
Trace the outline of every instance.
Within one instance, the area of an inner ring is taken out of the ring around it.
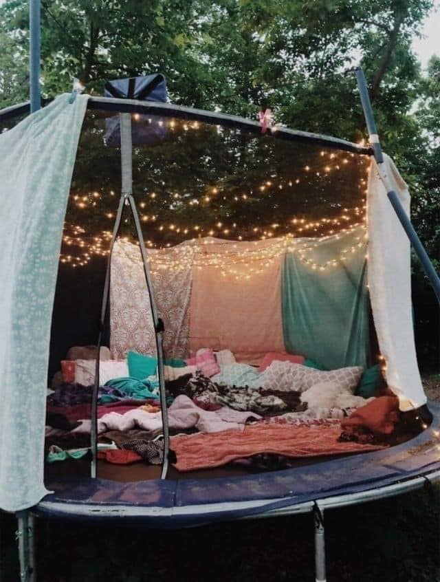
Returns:
[[[55,488],[55,493],[47,495],[43,499],[45,506],[40,509],[36,506],[35,510],[36,513],[65,515],[63,504],[96,504],[109,509],[115,505],[150,507],[159,510],[157,514],[143,518],[144,522],[148,521],[146,525],[179,528],[256,515],[262,513],[262,510],[279,509],[395,484],[440,469],[437,449],[440,441],[434,434],[440,430],[440,405],[430,403],[429,408],[433,415],[430,427],[416,438],[391,449],[244,477],[180,481],[155,479],[133,483],[106,479],[63,480],[50,484]],[[264,508],[235,506],[231,509],[223,506],[218,511],[212,511],[212,504],[245,504],[265,499],[267,504],[263,504]],[[277,500],[271,502],[270,499]],[[50,508],[52,503],[56,504],[53,510]],[[203,505],[210,505],[209,511],[203,512]],[[198,506],[197,510],[195,506]],[[194,512],[191,507],[194,507]],[[160,515],[160,508],[170,511]],[[181,511],[173,514],[173,508],[187,511],[184,515]],[[97,512],[97,517],[102,519],[102,512],[99,514]],[[107,517],[111,517],[111,513]]]

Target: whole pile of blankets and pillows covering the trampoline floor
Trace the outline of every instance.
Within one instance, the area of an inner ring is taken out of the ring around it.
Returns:
[[[95,360],[63,361],[63,383],[47,397],[50,462],[79,459],[89,450],[95,367]],[[236,362],[228,349],[199,349],[189,360],[167,360],[170,461],[178,471],[225,464],[266,470],[291,466],[298,457],[384,446],[349,436],[349,424],[342,430],[351,413],[360,409],[362,418],[362,407],[380,400],[355,395],[364,369],[317,368],[303,356],[274,352],[254,367]],[[129,352],[124,361],[101,362],[101,369],[106,381],[98,389],[98,458],[160,464],[157,360]]]

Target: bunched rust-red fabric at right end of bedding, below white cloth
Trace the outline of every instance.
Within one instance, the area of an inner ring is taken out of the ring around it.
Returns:
[[[358,429],[368,429],[374,434],[389,435],[398,420],[399,399],[396,396],[380,396],[342,420],[341,428],[349,434]]]

